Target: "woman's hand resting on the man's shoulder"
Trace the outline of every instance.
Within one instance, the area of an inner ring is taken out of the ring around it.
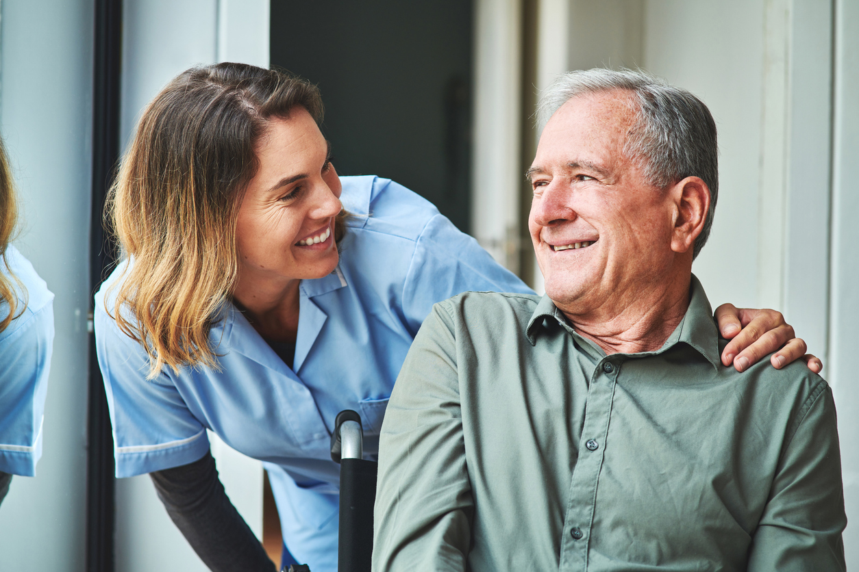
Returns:
[[[795,337],[794,328],[777,310],[722,304],[716,308],[716,322],[722,337],[730,340],[722,351],[722,364],[733,363],[737,371],[748,369],[772,352],[770,363],[777,370],[796,359],[804,361],[814,373],[823,370],[823,362],[806,353],[805,341]]]

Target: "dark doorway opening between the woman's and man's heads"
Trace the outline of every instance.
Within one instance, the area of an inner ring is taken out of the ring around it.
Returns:
[[[319,85],[342,175],[392,178],[468,232],[472,2],[271,1],[271,65]]]

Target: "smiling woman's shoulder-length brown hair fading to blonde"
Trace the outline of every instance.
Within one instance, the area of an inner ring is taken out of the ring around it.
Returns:
[[[131,259],[107,311],[145,348],[149,377],[165,364],[217,367],[209,332],[238,278],[235,225],[259,168],[255,146],[296,107],[321,122],[308,81],[218,63],[178,75],[143,111],[107,198],[107,223]]]

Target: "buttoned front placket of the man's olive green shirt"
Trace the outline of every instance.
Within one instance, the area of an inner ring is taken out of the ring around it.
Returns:
[[[608,423],[612,413],[618,362],[603,358],[597,364],[588,384],[588,402],[578,458],[570,479],[570,501],[564,518],[560,569],[588,569],[588,545],[594,522],[597,484],[606,451]]]

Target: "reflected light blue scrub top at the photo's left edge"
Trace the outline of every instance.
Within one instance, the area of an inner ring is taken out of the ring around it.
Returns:
[[[0,332],[0,471],[33,477],[42,456],[42,421],[53,346],[53,294],[14,246],[4,255],[18,300],[9,326]],[[9,275],[0,258],[0,272]],[[21,312],[24,304],[27,308]],[[0,319],[9,304],[0,303]]]

